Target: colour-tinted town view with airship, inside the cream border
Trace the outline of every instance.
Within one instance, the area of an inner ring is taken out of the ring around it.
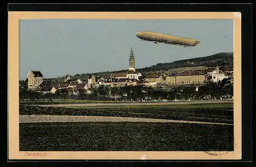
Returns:
[[[233,151],[232,19],[21,19],[19,151]]]

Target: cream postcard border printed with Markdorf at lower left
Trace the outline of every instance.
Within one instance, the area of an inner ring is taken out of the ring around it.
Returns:
[[[29,157],[19,151],[19,19],[233,19],[234,151],[49,151]],[[9,159],[241,159],[241,13],[239,12],[9,12],[8,15],[8,157]]]

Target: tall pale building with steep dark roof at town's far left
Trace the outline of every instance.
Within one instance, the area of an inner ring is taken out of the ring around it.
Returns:
[[[27,75],[28,89],[37,88],[43,81],[43,76],[40,71],[29,71]]]

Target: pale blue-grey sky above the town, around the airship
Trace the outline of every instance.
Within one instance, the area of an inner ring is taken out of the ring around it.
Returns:
[[[155,44],[135,36],[151,31],[201,42],[195,47]],[[20,21],[20,72],[44,78],[128,69],[233,51],[233,20],[227,19],[26,19]]]

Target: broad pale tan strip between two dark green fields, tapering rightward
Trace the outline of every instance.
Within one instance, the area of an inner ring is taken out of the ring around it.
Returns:
[[[193,123],[193,124],[233,125],[233,124],[224,124],[224,123],[164,120],[164,119],[150,119],[150,118],[129,118],[129,117],[19,115],[19,123],[37,123],[37,122],[174,122],[174,123]]]

